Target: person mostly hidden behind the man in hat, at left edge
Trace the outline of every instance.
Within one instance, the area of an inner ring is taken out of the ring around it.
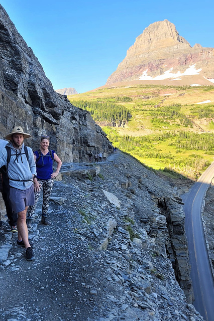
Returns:
[[[0,139],[0,150],[8,144],[7,140]],[[12,205],[10,201],[10,185],[7,177],[6,166],[0,169],[0,191],[2,193],[2,198],[5,202],[6,213],[9,219],[9,225],[11,226],[11,232],[17,232],[17,213],[12,210]],[[0,228],[2,226],[1,213],[0,213]]]

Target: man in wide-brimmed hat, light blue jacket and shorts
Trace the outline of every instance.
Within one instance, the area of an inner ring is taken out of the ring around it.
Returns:
[[[24,144],[24,138],[29,137],[31,135],[25,133],[20,126],[5,136],[10,142],[0,152],[0,167],[7,167],[12,210],[18,213],[17,244],[26,248],[26,259],[32,261],[35,257],[28,240],[26,213],[28,206],[35,203],[33,183],[36,183],[36,164],[33,150]]]

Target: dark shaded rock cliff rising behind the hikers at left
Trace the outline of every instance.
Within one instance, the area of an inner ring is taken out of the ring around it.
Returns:
[[[32,135],[36,149],[48,134],[51,148],[63,161],[81,162],[88,150],[112,150],[105,133],[90,114],[56,93],[43,68],[0,5],[0,136],[16,126]]]

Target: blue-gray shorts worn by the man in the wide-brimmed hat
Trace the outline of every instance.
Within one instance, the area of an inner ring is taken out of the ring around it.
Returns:
[[[26,206],[34,205],[34,184],[27,190],[10,187],[10,200],[12,210],[17,213],[24,211]]]

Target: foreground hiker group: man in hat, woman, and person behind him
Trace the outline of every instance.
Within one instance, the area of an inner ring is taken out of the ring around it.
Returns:
[[[6,206],[11,232],[18,233],[17,244],[25,247],[28,261],[35,259],[33,244],[28,239],[36,203],[43,188],[42,219],[44,225],[51,225],[48,220],[48,208],[53,180],[59,174],[62,162],[54,150],[49,149],[50,137],[42,135],[40,149],[33,152],[24,144],[24,139],[31,137],[21,126],[0,139],[0,189]],[[53,172],[53,162],[57,163]],[[0,218],[1,219],[1,218]],[[2,221],[0,220],[0,228]]]

